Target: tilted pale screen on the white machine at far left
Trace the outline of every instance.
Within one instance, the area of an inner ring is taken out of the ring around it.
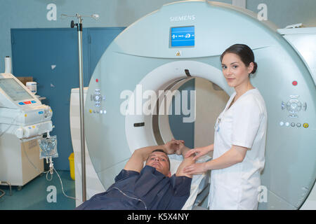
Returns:
[[[4,90],[13,101],[33,98],[14,78],[1,78],[0,88]]]

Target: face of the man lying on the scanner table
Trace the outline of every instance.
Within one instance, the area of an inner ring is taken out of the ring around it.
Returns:
[[[168,156],[166,153],[162,152],[153,152],[150,154],[150,156],[147,159],[146,165],[150,167],[156,168],[158,172],[161,172],[165,176],[171,176],[171,173],[169,171],[169,162],[168,162]]]

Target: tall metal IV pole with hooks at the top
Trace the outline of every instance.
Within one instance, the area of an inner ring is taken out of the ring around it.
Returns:
[[[74,20],[70,23],[70,27],[77,27],[78,31],[78,52],[79,52],[79,102],[80,102],[80,140],[81,140],[81,184],[82,184],[82,202],[86,201],[86,147],[84,141],[84,69],[82,59],[82,21],[83,17],[92,17],[98,20],[99,15],[79,15],[76,13],[74,16],[62,14],[61,16],[76,17],[78,23]]]

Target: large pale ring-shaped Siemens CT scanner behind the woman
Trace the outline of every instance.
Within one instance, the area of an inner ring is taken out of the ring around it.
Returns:
[[[105,189],[136,148],[173,137],[163,111],[154,107],[153,113],[142,113],[151,90],[159,96],[159,90],[174,90],[187,79],[201,77],[229,95],[234,92],[223,78],[219,57],[235,43],[254,50],[258,70],[251,83],[268,109],[261,176],[268,202],[259,209],[301,207],[316,177],[315,75],[270,22],[258,21],[249,10],[211,1],[162,6],[119,34],[98,62],[84,118],[88,152]],[[133,94],[128,98],[126,92]],[[165,96],[159,97],[154,105],[160,107]],[[124,114],[122,108],[133,110]]]

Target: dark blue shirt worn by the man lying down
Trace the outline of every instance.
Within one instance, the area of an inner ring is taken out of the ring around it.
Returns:
[[[76,209],[178,210],[190,196],[191,181],[187,176],[169,178],[150,166],[140,173],[122,169],[105,193],[94,195]]]

